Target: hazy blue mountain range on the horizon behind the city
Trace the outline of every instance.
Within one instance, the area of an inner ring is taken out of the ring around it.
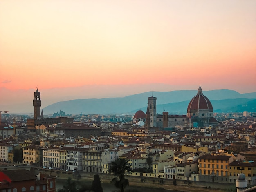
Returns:
[[[44,114],[63,110],[65,114],[132,114],[141,109],[146,113],[148,97],[157,97],[157,113],[186,114],[189,101],[197,94],[195,90],[170,92],[144,92],[118,98],[75,99],[53,103],[43,108]],[[213,105],[214,112],[256,112],[256,92],[240,94],[221,89],[203,91]],[[43,103],[43,100],[42,100]]]

